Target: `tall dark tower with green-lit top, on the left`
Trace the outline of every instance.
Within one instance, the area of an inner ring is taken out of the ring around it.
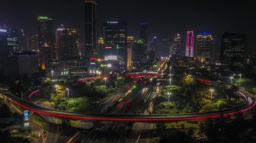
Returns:
[[[40,50],[40,67],[45,70],[55,58],[54,50],[54,33],[53,33],[53,19],[40,16],[38,21],[38,44]]]

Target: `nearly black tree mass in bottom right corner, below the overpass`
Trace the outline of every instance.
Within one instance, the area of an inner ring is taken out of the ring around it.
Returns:
[[[256,142],[256,116],[206,119],[200,123],[200,136],[208,142]]]

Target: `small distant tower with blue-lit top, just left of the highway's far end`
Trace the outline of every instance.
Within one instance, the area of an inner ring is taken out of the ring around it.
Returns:
[[[152,37],[149,47],[149,62],[155,62],[158,59],[157,37]]]

